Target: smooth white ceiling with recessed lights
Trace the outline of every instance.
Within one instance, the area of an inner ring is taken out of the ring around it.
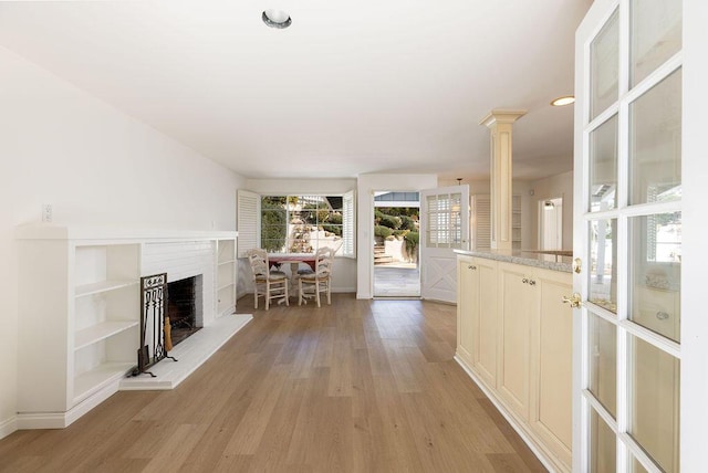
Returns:
[[[2,2],[0,45],[250,178],[572,169],[574,31],[591,0]],[[287,30],[261,12],[285,9]]]

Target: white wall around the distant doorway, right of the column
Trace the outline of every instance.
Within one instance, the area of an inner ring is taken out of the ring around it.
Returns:
[[[563,250],[573,249],[573,171],[551,176],[530,182],[533,196],[530,196],[530,240],[524,249],[538,250],[539,246],[539,201],[556,197],[563,198]],[[527,193],[528,195],[528,193]]]

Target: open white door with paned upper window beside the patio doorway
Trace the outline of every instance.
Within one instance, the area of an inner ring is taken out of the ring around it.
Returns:
[[[420,192],[420,296],[457,301],[457,259],[469,250],[469,186]]]

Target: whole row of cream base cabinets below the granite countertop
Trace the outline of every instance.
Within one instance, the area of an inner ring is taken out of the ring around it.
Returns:
[[[571,274],[458,255],[458,362],[546,466],[570,471]]]

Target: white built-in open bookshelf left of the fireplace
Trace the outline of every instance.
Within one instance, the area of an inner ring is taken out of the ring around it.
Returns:
[[[65,413],[135,365],[140,245],[32,230],[19,243],[19,411]]]

